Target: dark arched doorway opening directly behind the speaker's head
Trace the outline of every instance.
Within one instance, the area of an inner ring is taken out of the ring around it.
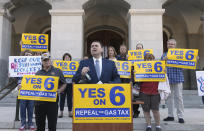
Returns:
[[[90,34],[87,37],[87,48],[85,54],[90,55],[90,46],[94,40],[99,40],[104,46],[103,56],[107,56],[108,46],[113,46],[117,53],[119,51],[120,45],[123,44],[123,38],[114,31],[111,30],[101,30]]]

